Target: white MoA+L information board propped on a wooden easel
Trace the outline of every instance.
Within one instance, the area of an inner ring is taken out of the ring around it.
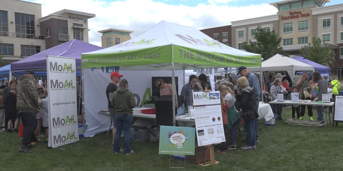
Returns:
[[[193,94],[198,145],[225,142],[219,91],[194,92]]]

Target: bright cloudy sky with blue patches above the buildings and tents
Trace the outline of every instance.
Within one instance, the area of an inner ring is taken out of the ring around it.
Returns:
[[[162,20],[199,30],[231,25],[231,21],[273,15],[269,5],[281,0],[25,0],[42,4],[42,16],[62,9],[92,13],[88,19],[89,42],[101,46],[99,30],[134,31],[134,38]],[[334,5],[342,0],[331,0]]]

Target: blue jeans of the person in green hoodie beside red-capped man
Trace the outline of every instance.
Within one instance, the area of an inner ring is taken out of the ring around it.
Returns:
[[[116,114],[116,136],[114,138],[114,152],[119,152],[119,141],[121,132],[124,130],[124,149],[125,154],[131,153],[130,131],[132,124],[132,115]]]

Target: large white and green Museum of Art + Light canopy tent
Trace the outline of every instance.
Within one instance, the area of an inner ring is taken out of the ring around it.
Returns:
[[[173,77],[172,83],[174,86],[174,70],[261,66],[261,55],[259,54],[229,47],[213,40],[194,27],[181,26],[166,21],[161,21],[143,34],[126,42],[106,49],[83,53],[81,58],[84,70],[113,66],[119,66],[120,70],[153,70],[157,74],[159,70],[171,70],[170,75]],[[141,73],[137,72],[137,75]],[[137,84],[140,83],[137,82]],[[131,85],[130,90],[133,90]],[[87,84],[85,84],[86,86]],[[95,89],[87,93],[93,93],[94,91]],[[99,90],[96,93],[104,93],[104,91]],[[170,106],[173,112],[175,112],[175,93],[173,91],[174,104]],[[84,102],[85,106],[87,103],[96,106],[95,103],[98,100],[88,102],[85,100]],[[85,109],[85,119],[88,127],[92,127],[87,119],[93,119],[92,122],[94,122],[96,118],[89,118],[87,115],[97,114],[89,113]],[[98,125],[94,125],[94,127],[98,127]]]

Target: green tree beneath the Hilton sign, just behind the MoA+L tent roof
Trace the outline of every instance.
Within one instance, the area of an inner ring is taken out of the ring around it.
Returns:
[[[251,42],[251,40],[249,40],[249,43],[243,42],[243,49],[247,52],[261,54],[264,60],[267,60],[277,53],[288,56],[281,47],[280,43],[282,38],[279,37],[279,34],[275,33],[274,29],[272,31],[265,31],[263,28],[257,28],[254,36],[257,40],[256,43]]]

